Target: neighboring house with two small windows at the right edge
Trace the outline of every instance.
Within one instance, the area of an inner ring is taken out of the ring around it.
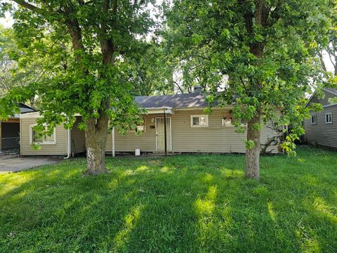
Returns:
[[[318,98],[314,93],[308,102],[308,105],[321,103],[323,110],[310,111],[310,119],[305,119],[305,140],[323,148],[337,148],[337,103],[329,103],[329,98],[337,97],[337,90],[323,89],[323,92],[324,98]]]

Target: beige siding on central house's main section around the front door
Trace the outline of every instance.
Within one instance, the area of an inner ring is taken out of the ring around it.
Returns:
[[[171,117],[172,150],[173,152],[210,152],[210,153],[245,153],[246,134],[237,134],[234,126],[222,126],[223,109],[214,109],[209,115],[208,127],[191,127],[191,115],[204,115],[204,110],[176,110]],[[155,122],[152,119],[163,115],[147,115],[145,117],[145,133],[135,136],[128,133],[126,136],[115,134],[116,152],[133,152],[140,148],[142,152],[156,151],[156,131],[151,129]],[[272,129],[263,127],[261,143],[266,143],[277,133]],[[278,153],[277,147],[271,147],[272,153]],[[112,135],[107,139],[108,152],[112,150]],[[267,150],[269,151],[270,148]]]

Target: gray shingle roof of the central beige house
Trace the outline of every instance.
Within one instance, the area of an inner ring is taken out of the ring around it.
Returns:
[[[143,108],[206,108],[209,106],[201,93],[136,96],[135,100]]]

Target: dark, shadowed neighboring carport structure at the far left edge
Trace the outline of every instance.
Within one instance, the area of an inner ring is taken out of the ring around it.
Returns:
[[[22,103],[19,104],[20,113],[34,112],[33,108]],[[0,121],[0,153],[6,150],[20,147],[20,115],[9,117],[6,121]]]

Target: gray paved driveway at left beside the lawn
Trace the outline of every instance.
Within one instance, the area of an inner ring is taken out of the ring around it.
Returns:
[[[22,171],[47,164],[60,162],[60,158],[51,157],[11,157],[0,156],[0,173]]]

